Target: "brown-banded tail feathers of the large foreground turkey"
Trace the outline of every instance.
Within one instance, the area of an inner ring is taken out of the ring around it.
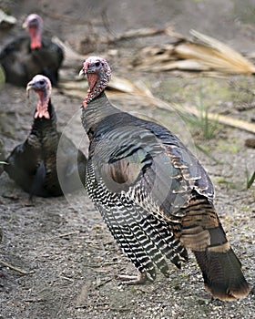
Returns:
[[[194,252],[206,289],[220,300],[235,300],[250,292],[241,263],[232,251],[219,217],[207,198],[197,195],[185,208],[180,242]]]

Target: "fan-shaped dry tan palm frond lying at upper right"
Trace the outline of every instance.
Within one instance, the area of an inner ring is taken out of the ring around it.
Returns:
[[[169,35],[176,36],[171,31]],[[174,44],[144,48],[134,62],[140,70],[167,71],[172,69],[218,71],[229,74],[253,74],[255,66],[239,52],[210,36],[195,30],[193,40],[177,36]]]

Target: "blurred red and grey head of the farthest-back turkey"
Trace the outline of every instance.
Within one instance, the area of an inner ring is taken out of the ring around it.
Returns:
[[[26,27],[27,32],[29,32],[31,38],[31,49],[42,46],[41,37],[43,26],[43,19],[40,15],[32,14],[26,17],[23,27]]]

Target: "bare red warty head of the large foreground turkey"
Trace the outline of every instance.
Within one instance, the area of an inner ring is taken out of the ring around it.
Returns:
[[[105,90],[111,78],[111,69],[102,57],[88,57],[83,63],[80,75],[87,75],[88,90],[83,105],[87,104]]]

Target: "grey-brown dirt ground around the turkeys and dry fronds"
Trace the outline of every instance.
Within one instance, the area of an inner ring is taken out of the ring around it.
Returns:
[[[210,111],[255,121],[254,77],[141,73],[127,65],[128,59],[143,46],[168,42],[166,36],[129,38],[110,45],[105,41],[130,29],[168,24],[185,36],[194,28],[250,53],[255,51],[255,1],[226,0],[223,5],[220,0],[4,0],[0,6],[17,18],[15,27],[0,31],[1,47],[22,34],[24,18],[36,12],[45,20],[46,35],[67,41],[84,57],[107,57],[114,74],[143,81],[158,98],[198,106],[202,94],[202,103]],[[82,61],[71,66],[67,62],[61,77],[75,77]],[[0,318],[254,318],[255,189],[253,185],[247,190],[246,185],[247,175],[255,170],[255,150],[245,146],[254,134],[217,124],[212,139],[203,139],[201,129],[173,111],[153,108],[135,97],[112,100],[119,108],[146,114],[168,126],[196,153],[215,185],[215,205],[242,262],[250,295],[233,303],[211,300],[191,253],[181,271],[172,266],[167,280],[158,273],[155,283],[121,286],[116,274],[132,274],[135,269],[118,250],[85,190],[29,202],[28,195],[4,172],[0,176]],[[80,123],[82,99],[54,88],[52,101],[59,130],[65,130],[87,153]],[[1,87],[0,103],[0,159],[5,159],[26,139],[35,104],[27,102],[24,88],[11,85]]]

